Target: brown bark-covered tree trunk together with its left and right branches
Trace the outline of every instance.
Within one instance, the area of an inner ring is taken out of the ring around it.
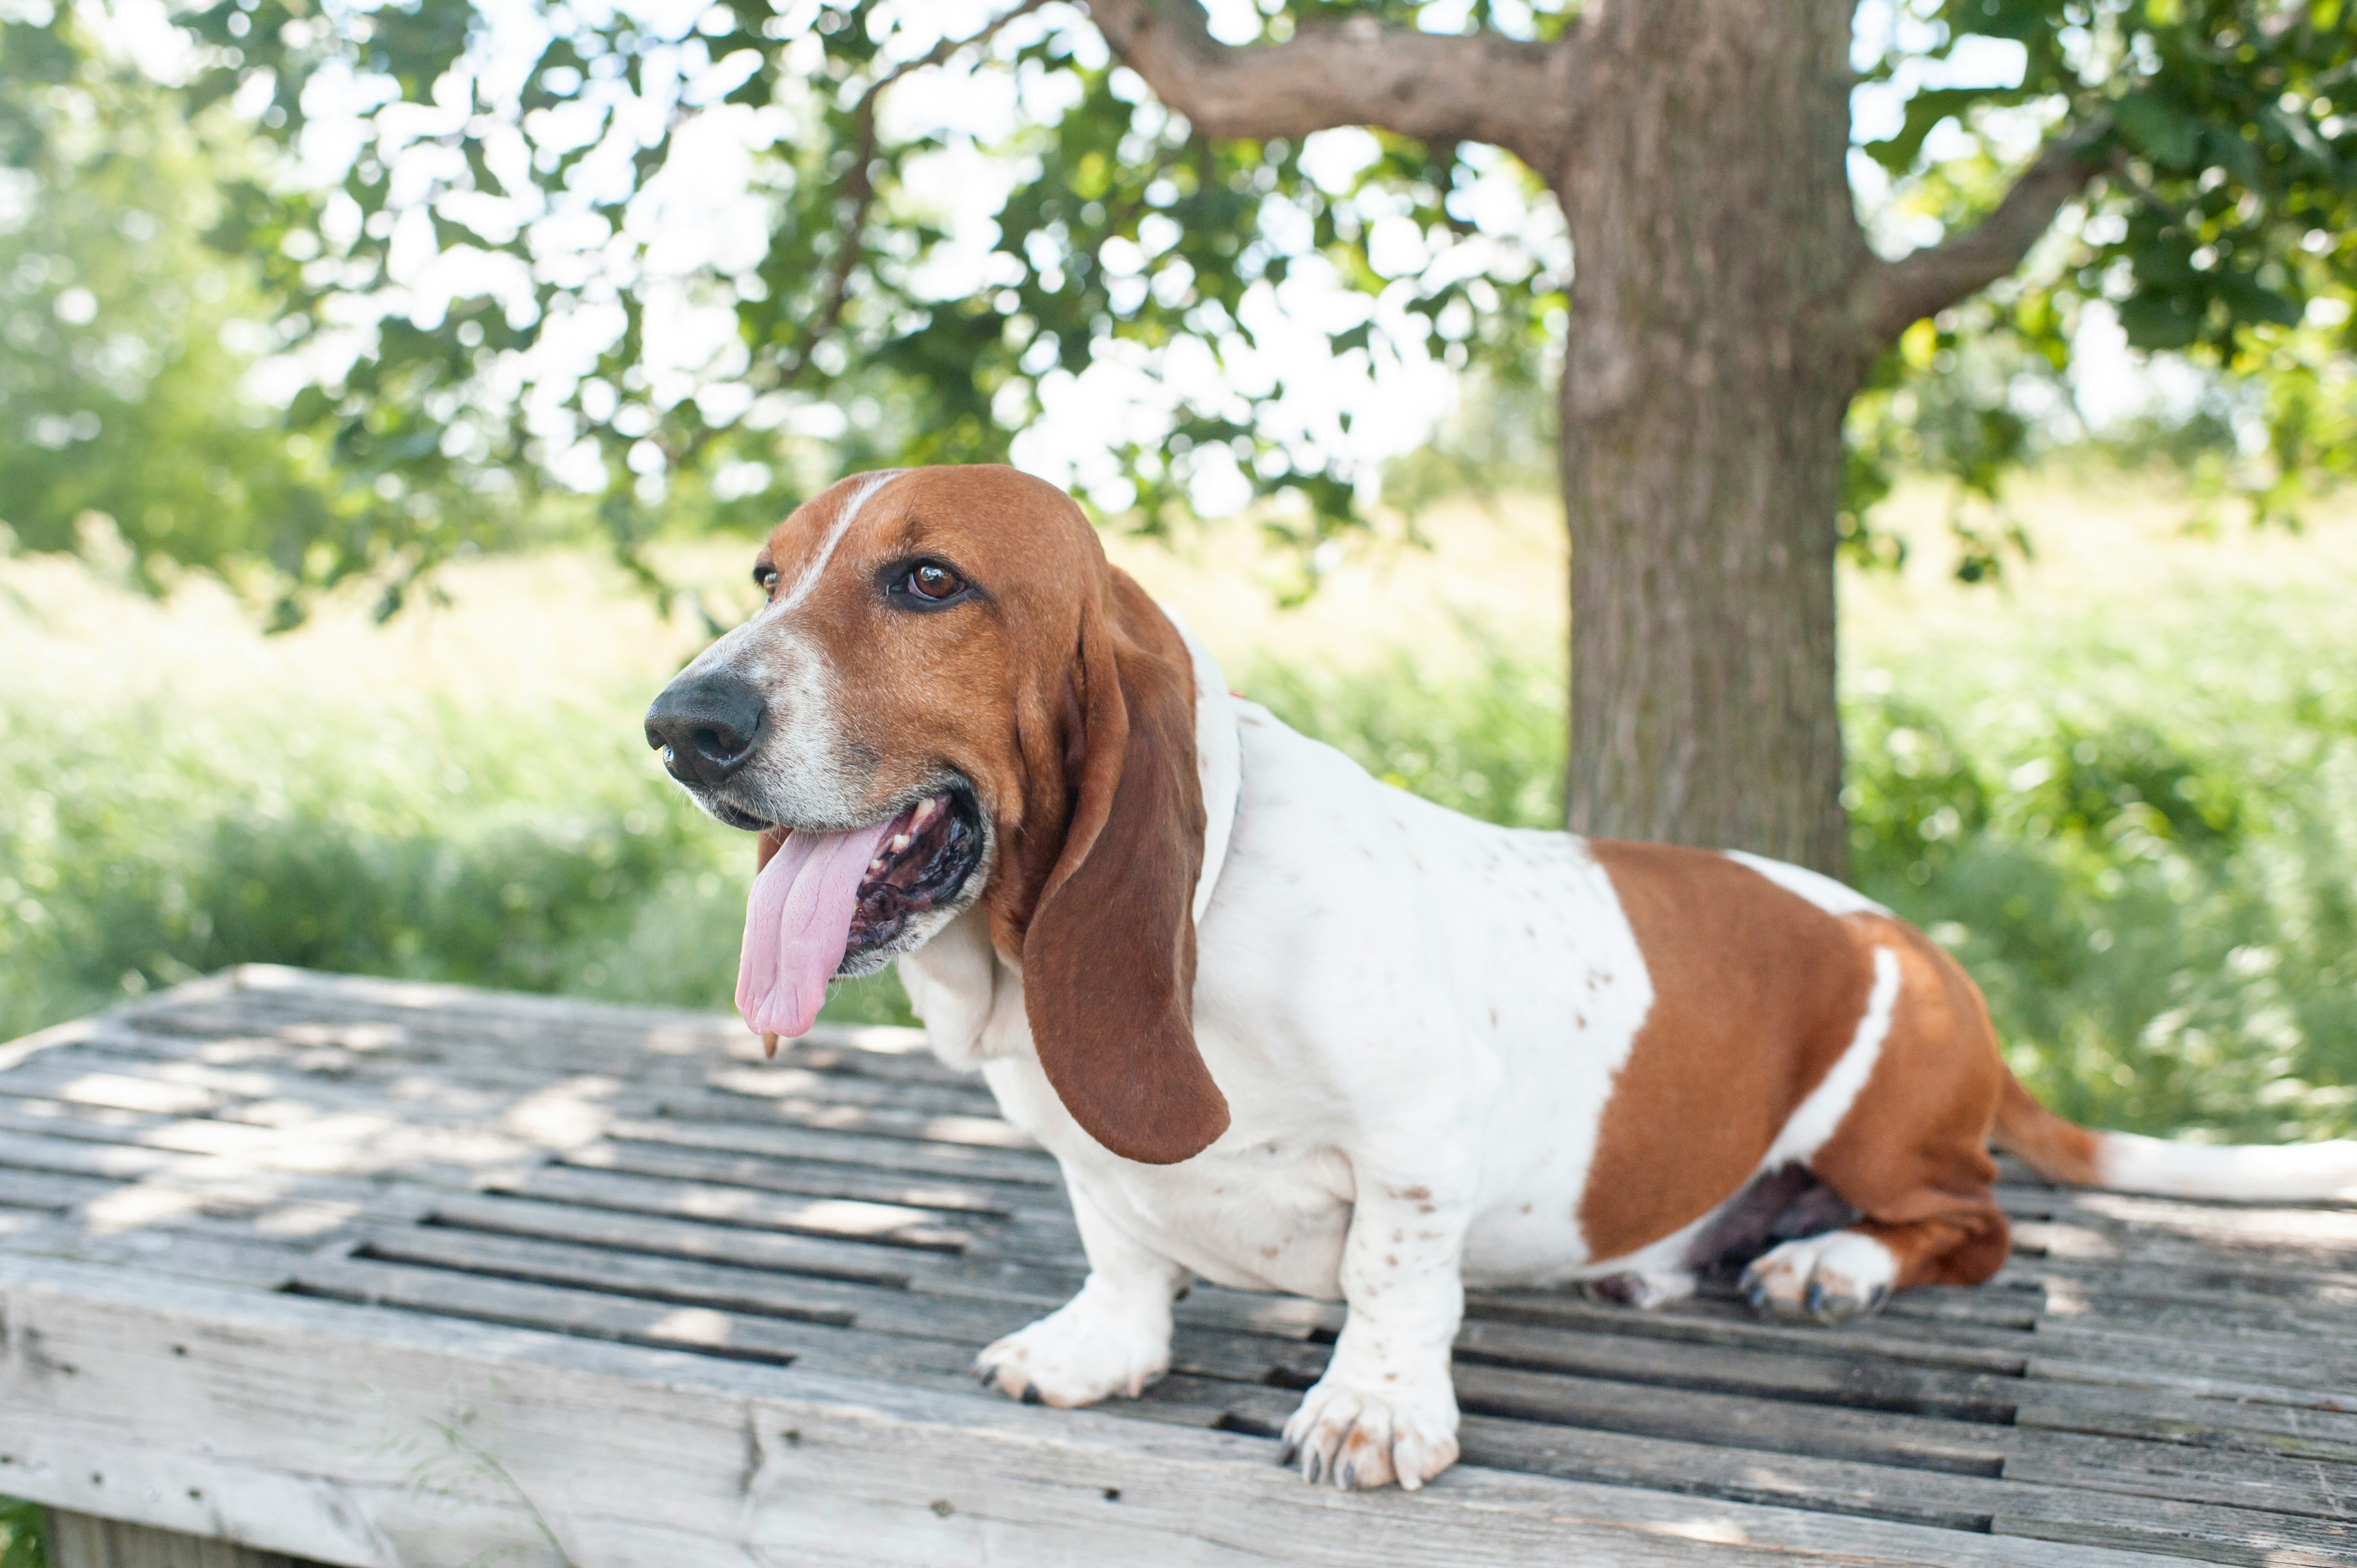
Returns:
[[[1836,877],[1843,413],[1897,332],[2020,264],[2105,137],[2062,137],[1978,229],[1881,262],[1850,205],[1850,9],[1589,0],[1551,45],[1353,19],[1228,47],[1197,0],[1089,0],[1207,134],[1494,141],[1553,186],[1574,259],[1570,825]]]

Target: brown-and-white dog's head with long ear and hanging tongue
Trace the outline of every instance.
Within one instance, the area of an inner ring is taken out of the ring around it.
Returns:
[[[1004,467],[860,474],[797,507],[754,580],[768,604],[646,714],[698,804],[761,835],[747,1023],[804,1033],[825,981],[983,905],[1091,1137],[1150,1162],[1219,1137],[1195,672],[1080,507]]]

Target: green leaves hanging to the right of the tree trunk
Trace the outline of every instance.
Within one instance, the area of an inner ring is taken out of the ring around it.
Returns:
[[[2036,441],[2025,415],[2067,403],[2095,302],[2133,349],[2216,375],[2201,410],[2220,439],[2211,479],[2258,519],[2291,519],[2303,495],[2350,474],[2357,17],[2345,0],[1923,0],[1897,12],[1893,35],[1916,28],[1930,47],[1890,47],[1862,75],[1919,75],[1968,40],[2015,45],[2022,68],[2003,90],[1919,90],[1893,134],[1864,146],[1902,212],[1952,226],[1987,210],[2008,177],[2003,132],[2022,116],[2058,137],[2102,130],[2102,174],[2022,276],[1919,323],[1883,361],[1850,420],[1853,549],[1890,552],[1867,507],[1919,465],[1982,502],[1959,505],[1961,571],[1994,571],[2006,535],[2020,540],[1989,523],[1987,502]]]

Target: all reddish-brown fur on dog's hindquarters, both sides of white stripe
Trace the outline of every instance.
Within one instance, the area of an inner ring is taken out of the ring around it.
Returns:
[[[2036,1113],[2006,1073],[1980,990],[1888,915],[1834,917],[1725,856],[1591,842],[1612,877],[1655,1004],[1612,1085],[1579,1224],[1591,1257],[1659,1240],[1737,1193],[1777,1132],[1857,1040],[1876,950],[1900,990],[1874,1070],[1810,1172],[1883,1240],[1897,1285],[1978,1285],[2006,1261],[1989,1132]],[[2053,1127],[2029,1127],[2069,1153]]]

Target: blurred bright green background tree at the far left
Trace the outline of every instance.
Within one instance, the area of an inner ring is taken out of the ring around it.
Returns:
[[[217,233],[247,141],[73,12],[0,26],[0,521],[33,549],[127,547],[148,587],[229,568],[292,620],[309,592],[467,533],[462,505],[398,505],[252,384],[288,314]]]

